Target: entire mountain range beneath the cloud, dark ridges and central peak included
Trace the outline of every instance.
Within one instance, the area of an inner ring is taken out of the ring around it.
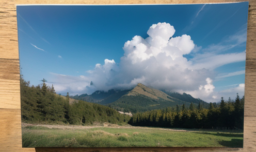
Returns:
[[[176,108],[177,105],[179,105],[181,109],[183,104],[188,108],[191,102],[194,103],[195,107],[198,106],[200,102],[205,103],[204,105],[207,106],[206,102],[195,99],[189,94],[164,92],[147,87],[141,83],[138,83],[136,87],[130,90],[111,89],[107,92],[95,91],[91,95],[81,94],[80,96],[71,96],[71,98],[106,105],[124,112],[141,112],[166,107]]]

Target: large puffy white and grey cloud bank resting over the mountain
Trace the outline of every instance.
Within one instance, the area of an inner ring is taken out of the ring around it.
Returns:
[[[120,63],[105,59],[104,65],[96,64],[94,69],[87,71],[87,76],[70,79],[81,83],[76,83],[77,86],[70,88],[69,92],[79,94],[112,88],[127,89],[142,83],[156,89],[190,92],[196,98],[214,99],[214,69],[245,60],[245,52],[198,54],[188,61],[183,55],[189,54],[195,44],[189,35],[172,37],[174,33],[175,29],[169,23],[153,24],[146,39],[136,35],[131,41],[125,42]],[[215,62],[218,59],[229,59],[230,56],[231,60]],[[59,82],[55,84],[56,88],[66,90],[61,80],[66,79],[67,82],[67,77],[56,76],[56,81]]]

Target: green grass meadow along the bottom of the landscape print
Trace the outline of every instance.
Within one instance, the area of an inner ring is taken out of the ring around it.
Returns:
[[[243,147],[237,130],[23,126],[23,147]]]

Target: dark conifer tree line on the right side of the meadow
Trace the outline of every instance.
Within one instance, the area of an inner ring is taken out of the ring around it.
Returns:
[[[177,128],[226,128],[243,129],[244,127],[244,97],[235,101],[229,98],[219,103],[210,103],[209,108],[204,108],[199,103],[197,107],[193,103],[189,108],[177,105],[176,108],[137,112],[129,121],[134,126],[152,127],[177,127]]]

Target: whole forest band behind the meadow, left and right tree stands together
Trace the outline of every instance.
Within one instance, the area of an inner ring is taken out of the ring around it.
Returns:
[[[122,115],[108,106],[76,101],[69,103],[66,97],[56,94],[54,86],[47,86],[44,79],[38,86],[29,86],[29,81],[21,78],[22,122],[43,124],[92,125],[93,123],[127,124],[133,126],[168,128],[225,128],[243,129],[244,97],[237,94],[235,101],[229,98],[219,103],[190,103],[164,109],[154,109],[133,113],[133,117]],[[137,103],[139,104],[139,103]],[[135,105],[136,106],[136,105]],[[208,107],[208,106],[207,106]]]

